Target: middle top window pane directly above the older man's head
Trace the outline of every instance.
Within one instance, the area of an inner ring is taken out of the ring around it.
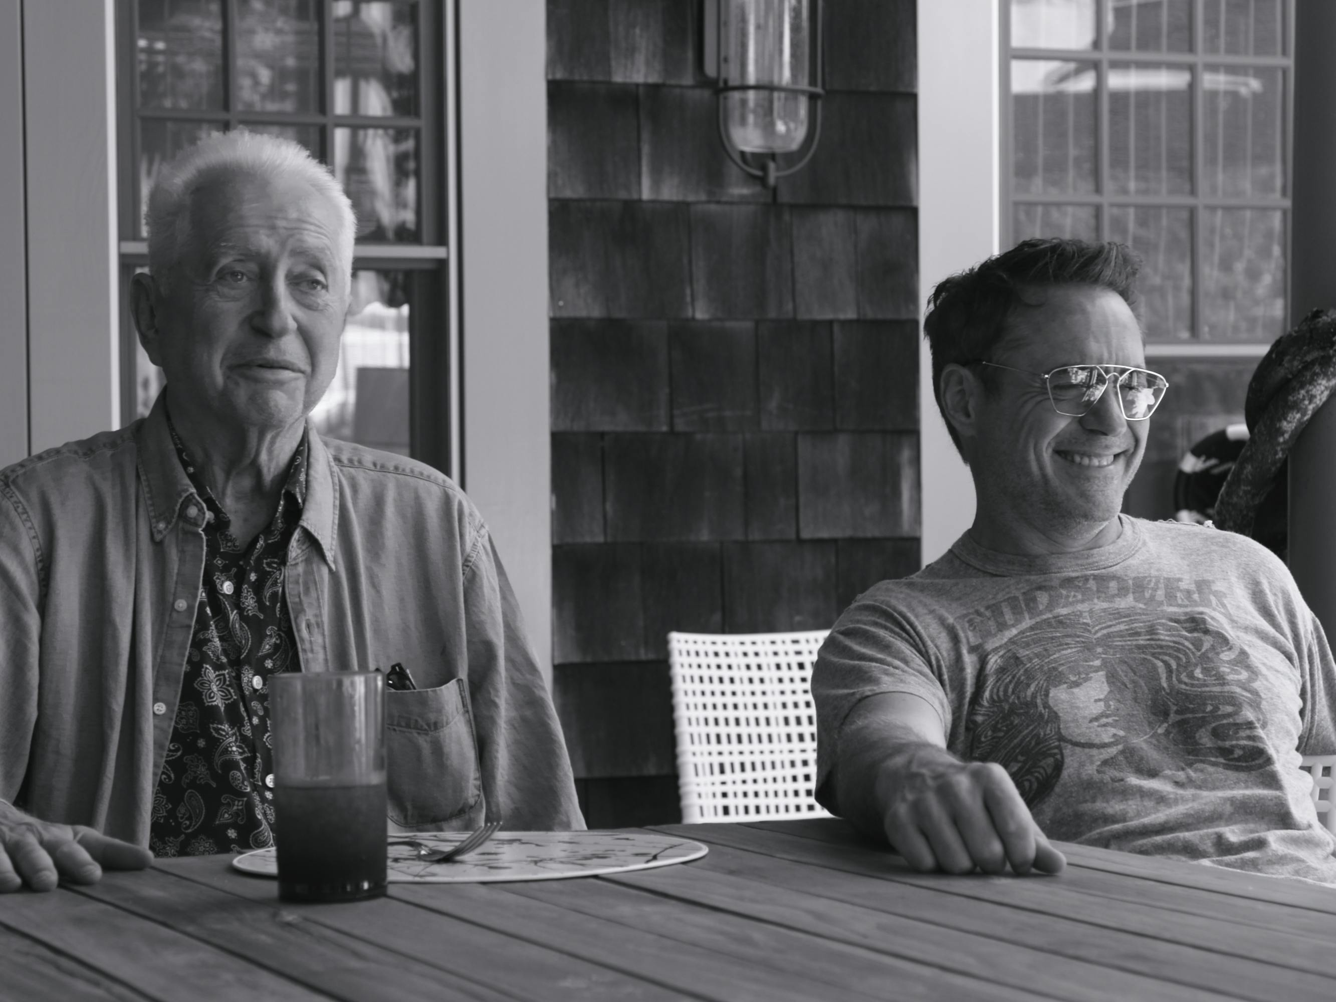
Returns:
[[[321,11],[315,0],[240,0],[236,107],[321,110]]]

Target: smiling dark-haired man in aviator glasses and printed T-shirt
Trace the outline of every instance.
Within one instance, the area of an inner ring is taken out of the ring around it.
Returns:
[[[1166,382],[1136,263],[1027,240],[933,294],[973,526],[822,648],[818,799],[919,870],[1058,871],[1047,838],[1336,882],[1300,754],[1336,667],[1253,541],[1120,514]]]

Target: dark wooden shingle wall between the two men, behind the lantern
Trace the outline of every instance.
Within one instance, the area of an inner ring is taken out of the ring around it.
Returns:
[[[919,565],[914,0],[827,0],[820,147],[725,158],[699,0],[548,0],[553,660],[591,827],[677,820],[669,629]]]

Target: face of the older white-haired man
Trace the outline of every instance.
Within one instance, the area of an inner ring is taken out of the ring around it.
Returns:
[[[174,409],[265,429],[305,420],[338,365],[339,226],[334,204],[291,178],[228,174],[195,194],[182,259],[140,322]]]

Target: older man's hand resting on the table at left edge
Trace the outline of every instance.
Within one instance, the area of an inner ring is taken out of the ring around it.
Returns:
[[[0,800],[0,894],[27,884],[96,883],[107,870],[143,870],[154,854],[83,824],[53,824]]]

